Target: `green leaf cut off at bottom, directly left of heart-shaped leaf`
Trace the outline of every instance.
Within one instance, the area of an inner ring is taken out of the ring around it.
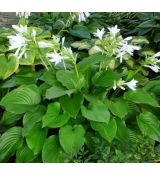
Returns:
[[[43,163],[63,163],[63,154],[58,136],[50,136],[46,139],[42,149]]]

